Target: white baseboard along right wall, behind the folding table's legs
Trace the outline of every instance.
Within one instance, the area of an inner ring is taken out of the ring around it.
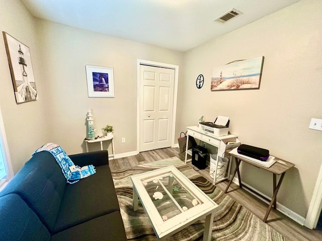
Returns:
[[[237,184],[239,186],[239,182],[238,182],[238,178],[234,177],[232,179],[232,182]],[[259,194],[263,195],[264,197],[266,198],[269,198],[271,199],[271,197],[261,193],[260,191],[256,190],[255,188],[253,188],[252,186],[244,183],[244,182],[241,182],[243,185],[253,189],[254,191],[258,192]],[[256,193],[253,193],[251,192],[250,190],[248,190],[247,188],[244,188],[244,190],[248,191],[249,193],[252,193],[253,195],[255,195],[257,198],[261,199],[262,201],[266,202],[267,204],[269,204],[269,202],[267,200],[265,200],[264,198],[260,197],[259,195],[257,195]],[[293,219],[295,222],[301,224],[301,225],[304,225],[304,222],[305,222],[305,218],[300,216],[299,214],[297,214],[296,212],[292,211],[291,209],[283,206],[282,204],[280,203],[276,203],[276,209],[278,211],[280,211],[281,213],[283,213],[284,215],[288,216],[289,218]]]

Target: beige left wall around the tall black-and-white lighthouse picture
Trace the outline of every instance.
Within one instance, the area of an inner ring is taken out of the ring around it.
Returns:
[[[0,30],[29,47],[39,99],[17,104],[4,38],[0,37],[0,106],[13,170],[16,173],[47,137],[45,95],[38,58],[35,20],[20,1],[0,0]],[[28,63],[29,64],[29,63]]]

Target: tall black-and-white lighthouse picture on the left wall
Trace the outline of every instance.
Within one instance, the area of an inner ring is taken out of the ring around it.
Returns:
[[[29,48],[2,32],[17,103],[37,99],[37,88]]]

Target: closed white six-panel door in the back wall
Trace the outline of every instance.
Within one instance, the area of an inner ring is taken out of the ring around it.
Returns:
[[[174,69],[140,65],[140,152],[171,146],[174,79]]]

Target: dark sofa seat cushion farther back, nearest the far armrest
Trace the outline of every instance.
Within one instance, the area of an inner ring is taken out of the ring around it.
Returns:
[[[94,175],[66,185],[54,232],[119,210],[110,168],[98,166]]]

